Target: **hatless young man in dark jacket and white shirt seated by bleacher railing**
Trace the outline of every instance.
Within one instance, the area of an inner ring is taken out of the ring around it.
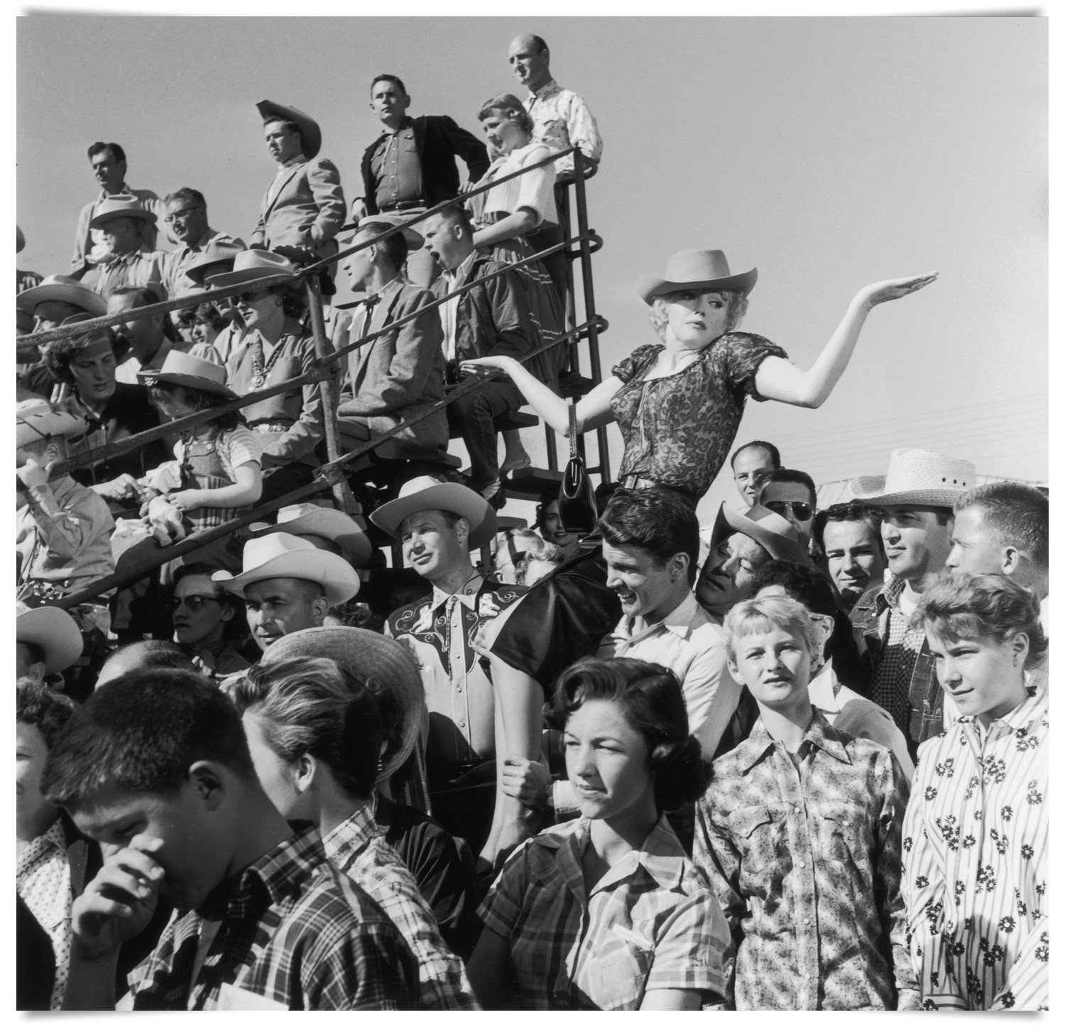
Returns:
[[[507,267],[474,248],[473,228],[463,208],[448,207],[421,224],[426,249],[444,271],[432,286],[436,298]],[[440,307],[440,319],[452,382],[460,380],[458,368],[463,360],[489,356],[521,360],[541,345],[525,287],[515,271],[448,300]],[[551,375],[548,355],[541,354],[527,364],[541,381]],[[490,503],[503,499],[494,421],[524,403],[509,379],[499,379],[481,385],[447,407],[447,420],[461,434],[470,453],[470,486]]]

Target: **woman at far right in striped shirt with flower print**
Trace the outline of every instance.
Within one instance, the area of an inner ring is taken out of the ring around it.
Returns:
[[[1047,653],[1039,601],[1003,574],[921,596],[944,734],[921,746],[903,824],[907,936],[924,1009],[1046,1009]]]

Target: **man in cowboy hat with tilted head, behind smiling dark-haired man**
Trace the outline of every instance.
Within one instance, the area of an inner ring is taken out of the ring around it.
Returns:
[[[794,525],[757,504],[739,511],[722,503],[709,548],[695,583],[695,598],[718,624],[733,606],[754,596],[754,572],[763,565],[771,559],[809,565]]]

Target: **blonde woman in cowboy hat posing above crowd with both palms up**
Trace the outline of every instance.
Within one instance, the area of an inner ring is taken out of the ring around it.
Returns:
[[[918,275],[866,286],[813,366],[803,371],[768,339],[735,330],[756,270],[734,275],[720,249],[682,250],[670,258],[665,275],[644,276],[637,290],[651,308],[660,342],[638,347],[577,403],[576,429],[617,421],[625,440],[622,485],[663,486],[694,504],[732,449],[748,396],[819,407],[843,373],[869,311],[935,278]],[[502,371],[547,424],[569,435],[567,402],[517,360],[481,357],[464,361],[461,370]],[[599,539],[592,536],[559,571],[534,586],[503,625],[492,649],[498,666],[493,680],[497,686],[505,682],[501,696],[530,701],[573,659],[593,653],[617,624],[620,604],[606,588],[597,553]]]

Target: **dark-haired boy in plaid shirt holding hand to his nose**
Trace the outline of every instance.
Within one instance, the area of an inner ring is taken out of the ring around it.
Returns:
[[[266,797],[229,700],[185,670],[89,696],[42,792],[106,853],[71,909],[64,1009],[113,1009],[119,946],[175,913],[129,974],[133,1009],[411,1009],[417,965],[379,907]]]

